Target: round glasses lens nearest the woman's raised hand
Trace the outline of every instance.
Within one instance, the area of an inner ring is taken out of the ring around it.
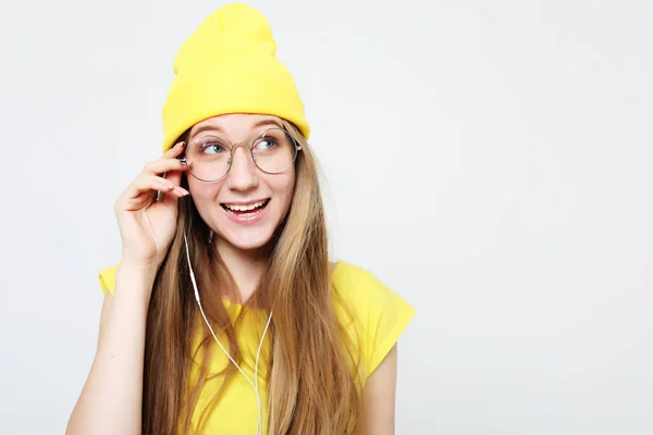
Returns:
[[[231,151],[225,140],[217,136],[202,136],[186,150],[188,171],[205,182],[222,178],[229,171]]]

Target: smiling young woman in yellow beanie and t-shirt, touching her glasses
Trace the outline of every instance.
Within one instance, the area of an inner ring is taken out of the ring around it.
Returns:
[[[115,202],[98,349],[67,434],[393,434],[414,309],[328,259],[309,125],[266,18],[174,61],[163,154]]]

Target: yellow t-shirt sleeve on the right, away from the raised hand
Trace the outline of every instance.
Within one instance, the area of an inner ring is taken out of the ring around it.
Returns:
[[[353,264],[340,262],[332,282],[356,322],[369,377],[408,326],[415,308],[371,272]]]

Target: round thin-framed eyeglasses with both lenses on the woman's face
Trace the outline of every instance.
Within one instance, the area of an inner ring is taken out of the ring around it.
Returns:
[[[201,182],[223,178],[232,166],[233,153],[241,144],[231,144],[218,136],[205,135],[193,139],[181,159],[188,172]],[[246,145],[246,144],[242,144]],[[267,174],[287,171],[301,147],[282,128],[268,128],[248,146],[256,166]]]

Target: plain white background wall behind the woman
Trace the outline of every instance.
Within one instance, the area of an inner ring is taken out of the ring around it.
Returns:
[[[0,7],[0,433],[61,434],[113,201],[215,1]],[[333,257],[417,309],[398,434],[653,433],[650,1],[251,1],[328,181]]]

